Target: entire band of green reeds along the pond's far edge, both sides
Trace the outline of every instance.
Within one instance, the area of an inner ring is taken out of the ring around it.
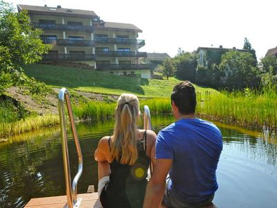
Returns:
[[[151,114],[172,112],[169,98],[140,98],[140,102],[141,112],[144,105],[150,107]],[[243,92],[221,92],[211,94],[208,99],[198,97],[197,102],[197,116],[251,129],[277,128],[277,92],[272,87],[265,87],[259,91],[245,89]],[[113,102],[89,101],[73,104],[73,114],[79,121],[104,121],[114,118],[115,108],[116,103]],[[60,123],[58,115],[28,116],[13,121],[15,117],[12,115],[1,119],[0,138]]]

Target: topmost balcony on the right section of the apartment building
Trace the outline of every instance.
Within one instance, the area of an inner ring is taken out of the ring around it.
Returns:
[[[136,40],[129,38],[108,38],[108,37],[94,37],[96,44],[126,44],[126,45],[138,45],[139,48],[145,45],[144,40]]]

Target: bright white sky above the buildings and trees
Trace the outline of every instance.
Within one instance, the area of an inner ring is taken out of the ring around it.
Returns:
[[[140,51],[177,55],[199,46],[242,49],[247,37],[258,60],[277,46],[276,0],[5,0],[36,6],[93,10],[104,21],[134,24]]]

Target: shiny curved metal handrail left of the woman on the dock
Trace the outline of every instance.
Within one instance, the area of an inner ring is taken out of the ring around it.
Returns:
[[[66,107],[69,113],[69,121],[71,123],[71,129],[73,133],[73,138],[75,141],[75,146],[78,153],[78,173],[75,175],[72,186],[71,186],[71,174],[70,174],[70,165],[69,165],[69,150],[67,146],[67,134],[66,134],[66,119],[65,119],[65,113],[64,113],[64,98]],[[67,89],[62,88],[60,89],[59,93],[59,113],[60,113],[60,129],[61,129],[61,137],[62,137],[62,158],[64,162],[64,177],[65,177],[65,183],[66,183],[66,198],[67,198],[67,206],[72,208],[78,198],[77,198],[77,184],[80,176],[82,175],[82,167],[83,167],[83,161],[82,161],[82,150],[80,148],[80,143],[77,135],[77,130],[75,127],[75,121],[73,118],[73,112],[69,97],[69,92]]]

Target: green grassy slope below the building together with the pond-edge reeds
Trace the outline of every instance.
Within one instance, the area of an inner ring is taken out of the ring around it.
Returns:
[[[148,105],[152,114],[171,112],[170,94],[172,88],[179,83],[176,78],[169,80],[151,80],[115,76],[110,73],[53,67],[34,64],[25,67],[28,76],[44,81],[52,87],[66,87],[78,100],[73,102],[73,113],[79,120],[103,121],[114,116],[116,103],[88,101],[75,91],[99,94],[120,95],[123,92],[140,97],[141,108]],[[215,89],[195,85],[197,92],[197,115],[213,121],[231,123],[247,128],[277,128],[277,92],[273,87],[265,87],[258,91],[245,89],[244,92],[217,92]],[[205,92],[211,92],[206,96]],[[77,104],[78,103],[78,104]],[[143,109],[141,109],[143,112]],[[59,123],[57,115],[20,117],[12,103],[0,103],[0,137],[17,135],[21,132],[37,130],[45,126]]]

